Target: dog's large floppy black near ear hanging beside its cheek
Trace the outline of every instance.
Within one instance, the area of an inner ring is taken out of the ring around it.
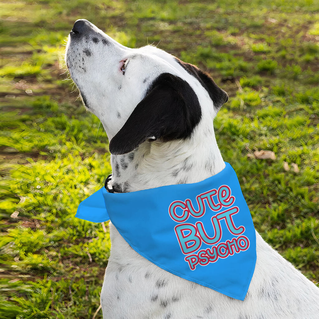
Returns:
[[[197,95],[190,85],[177,76],[163,73],[112,138],[109,150],[112,154],[125,154],[147,139],[187,138],[201,116]]]

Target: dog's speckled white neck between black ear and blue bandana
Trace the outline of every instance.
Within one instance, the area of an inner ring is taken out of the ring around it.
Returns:
[[[112,185],[122,192],[200,182],[225,167],[213,128],[203,126],[185,140],[146,141],[133,152],[112,155],[111,165]]]

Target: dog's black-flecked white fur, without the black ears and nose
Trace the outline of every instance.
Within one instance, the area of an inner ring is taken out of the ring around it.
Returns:
[[[94,36],[110,44],[93,43]],[[90,56],[84,53],[86,48]],[[163,72],[186,80],[200,102],[202,119],[189,139],[146,141],[129,154],[112,155],[112,183],[136,191],[199,182],[224,168],[213,131],[213,103],[173,56],[153,46],[126,48],[93,25],[80,40],[69,39],[66,53],[71,77],[85,95],[88,109],[100,118],[109,140],[143,99],[152,80]],[[123,75],[119,65],[127,58],[130,62]],[[160,269],[130,248],[111,224],[110,235],[111,255],[101,292],[105,319],[319,318],[319,289],[258,233],[256,268],[244,301]]]

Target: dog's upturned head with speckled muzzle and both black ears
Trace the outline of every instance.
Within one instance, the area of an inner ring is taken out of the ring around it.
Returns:
[[[151,45],[127,48],[84,19],[70,32],[66,64],[113,154],[145,141],[188,138],[228,100],[197,67]]]

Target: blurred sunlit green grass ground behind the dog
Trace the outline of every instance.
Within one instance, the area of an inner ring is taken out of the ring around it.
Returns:
[[[0,317],[102,318],[108,225],[74,219],[111,172],[63,62],[75,20],[208,71],[214,128],[256,229],[319,281],[319,2],[6,1],[1,12]]]

